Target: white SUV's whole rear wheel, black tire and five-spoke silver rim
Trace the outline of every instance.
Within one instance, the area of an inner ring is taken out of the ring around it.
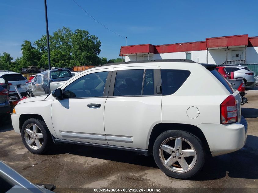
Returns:
[[[201,140],[182,130],[168,130],[160,134],[154,142],[153,156],[166,175],[179,179],[193,177],[205,162]]]

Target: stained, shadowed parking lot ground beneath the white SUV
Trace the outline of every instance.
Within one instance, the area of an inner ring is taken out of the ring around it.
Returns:
[[[55,192],[99,187],[258,188],[258,90],[246,92],[249,103],[242,106],[249,129],[245,147],[211,158],[190,180],[167,177],[153,157],[133,152],[59,144],[47,155],[34,155],[24,147],[10,122],[0,126],[0,160],[33,183],[54,184]]]

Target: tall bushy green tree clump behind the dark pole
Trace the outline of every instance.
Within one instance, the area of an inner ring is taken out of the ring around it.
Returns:
[[[40,66],[48,66],[46,35],[34,42],[35,48],[41,53]],[[100,58],[101,42],[95,35],[86,30],[74,32],[68,27],[58,29],[49,35],[51,66],[72,67],[107,63]]]

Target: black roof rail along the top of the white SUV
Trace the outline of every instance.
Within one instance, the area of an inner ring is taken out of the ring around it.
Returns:
[[[100,65],[98,65],[96,67],[119,65],[119,64],[150,63],[150,62],[187,62],[187,63],[196,63],[193,60],[187,60],[187,59],[164,59],[164,60],[161,59],[161,60],[139,60],[139,61],[110,63],[110,64],[100,64]]]

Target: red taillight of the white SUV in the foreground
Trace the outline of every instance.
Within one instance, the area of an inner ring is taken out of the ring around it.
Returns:
[[[220,105],[220,121],[222,124],[238,121],[237,102],[233,95],[229,95]]]

